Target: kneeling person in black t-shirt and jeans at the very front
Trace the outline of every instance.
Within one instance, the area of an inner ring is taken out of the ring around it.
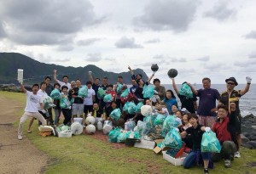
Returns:
[[[187,135],[191,135],[193,148],[189,155],[183,160],[183,167],[185,169],[189,169],[192,166],[201,165],[201,160],[198,157],[202,157],[204,173],[209,173],[208,165],[209,160],[211,160],[212,155],[208,152],[201,152],[201,139],[204,132],[208,132],[211,130],[210,127],[201,126],[198,124],[198,116],[195,114],[191,114],[189,116],[189,123],[191,127],[186,129],[184,132],[181,132],[182,138],[186,138]]]

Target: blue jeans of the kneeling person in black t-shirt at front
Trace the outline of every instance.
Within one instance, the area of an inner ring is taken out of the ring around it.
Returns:
[[[200,154],[198,154],[198,153],[200,153]],[[185,158],[185,160],[183,160],[183,167],[185,169],[189,169],[192,166],[195,166],[196,162],[199,162],[199,161],[197,161],[197,160],[199,160],[198,155],[201,155],[203,160],[211,159],[211,153],[209,153],[209,152],[200,152],[200,151],[198,152],[196,150],[192,150],[189,153],[189,155]]]

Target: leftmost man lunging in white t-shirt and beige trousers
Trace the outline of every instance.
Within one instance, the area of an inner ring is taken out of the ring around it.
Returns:
[[[38,112],[38,106],[40,106],[42,112],[45,113],[43,98],[41,95],[38,95],[39,85],[34,84],[32,86],[32,92],[27,91],[22,84],[20,84],[20,88],[23,93],[26,93],[26,108],[24,114],[20,118],[18,129],[18,139],[21,140],[23,124],[29,117],[38,119],[38,121],[42,122],[43,126],[46,125],[46,120],[44,119],[44,116]]]

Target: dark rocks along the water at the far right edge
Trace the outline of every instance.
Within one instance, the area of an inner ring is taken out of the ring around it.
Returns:
[[[241,145],[248,149],[256,149],[256,117],[246,115],[241,119]]]

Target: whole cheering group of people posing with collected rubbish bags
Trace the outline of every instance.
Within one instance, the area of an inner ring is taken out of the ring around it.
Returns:
[[[32,92],[29,92],[20,83],[21,90],[26,93],[26,108],[24,115],[20,118],[18,139],[22,139],[22,127],[26,119],[32,118],[27,132],[31,132],[31,126],[34,119],[38,119],[42,125],[55,125],[57,126],[60,121],[61,113],[64,115],[65,125],[70,125],[74,117],[86,117],[93,115],[97,119],[112,120],[110,113],[113,109],[119,108],[122,110],[125,102],[134,102],[138,104],[143,102],[145,105],[150,105],[154,112],[162,115],[176,115],[181,121],[179,131],[182,138],[189,138],[191,152],[183,162],[184,168],[189,168],[195,164],[199,164],[198,154],[201,154],[205,173],[208,173],[208,166],[211,161],[218,161],[224,159],[224,166],[230,167],[230,160],[234,157],[240,157],[239,149],[241,147],[241,115],[239,109],[239,98],[249,91],[252,78],[246,77],[246,87],[241,90],[235,90],[238,85],[235,77],[230,77],[225,80],[226,91],[218,93],[217,89],[211,88],[210,78],[203,78],[203,88],[196,90],[193,85],[185,81],[193,92],[193,96],[186,96],[180,93],[176,86],[175,79],[172,78],[172,87],[180,99],[181,107],[178,107],[177,99],[171,89],[166,90],[165,87],[160,85],[160,79],[155,78],[154,96],[152,98],[143,97],[143,87],[148,86],[149,82],[154,77],[149,76],[147,81],[143,80],[141,74],[135,76],[133,70],[129,66],[128,69],[131,73],[131,87],[129,88],[129,95],[127,98],[121,98],[121,93],[127,89],[123,82],[123,77],[118,76],[117,84],[122,85],[121,91],[118,91],[118,85],[108,84],[108,77],[103,77],[102,84],[99,78],[94,78],[92,72],[89,71],[89,81],[86,82],[88,88],[88,95],[85,98],[79,97],[79,89],[82,87],[81,81],[68,82],[68,76],[63,76],[62,81],[57,79],[57,71],[54,70],[55,84],[50,84],[51,78],[45,77],[45,81],[40,84],[32,86]],[[105,102],[103,98],[97,95],[99,88],[111,94],[112,101]],[[55,119],[53,119],[52,109],[44,109],[43,98],[44,95],[50,95],[54,90],[61,91],[61,98],[67,98],[72,101],[72,104],[67,108],[61,108],[60,101],[55,100]],[[197,99],[199,103],[197,104]],[[218,102],[218,103],[217,103]],[[143,115],[136,113],[131,115],[123,112],[120,120],[116,122],[116,126],[124,126],[125,121],[133,119],[135,121],[143,121]],[[201,138],[203,132],[216,133],[219,142],[222,145],[220,153],[201,153]]]

